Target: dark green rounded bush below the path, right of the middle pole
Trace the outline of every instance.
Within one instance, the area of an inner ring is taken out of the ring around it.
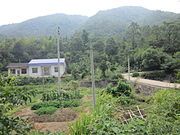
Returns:
[[[117,87],[113,87],[112,84],[110,84],[107,87],[107,92],[113,96],[130,96],[131,87],[125,82],[119,81]]]

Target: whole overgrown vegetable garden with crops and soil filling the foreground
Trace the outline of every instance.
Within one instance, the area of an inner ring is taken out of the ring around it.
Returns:
[[[57,91],[56,80],[46,79],[50,81],[44,84],[33,78],[22,83],[20,78],[1,76],[0,135],[180,134],[179,90],[144,96],[119,80],[97,88],[93,108],[90,88],[65,78]]]

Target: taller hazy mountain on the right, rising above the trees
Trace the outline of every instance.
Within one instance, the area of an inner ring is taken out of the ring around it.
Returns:
[[[131,22],[142,25],[158,25],[164,21],[180,18],[172,12],[148,10],[143,7],[125,6],[106,11],[99,11],[88,19],[83,29],[95,35],[112,35],[124,31]]]

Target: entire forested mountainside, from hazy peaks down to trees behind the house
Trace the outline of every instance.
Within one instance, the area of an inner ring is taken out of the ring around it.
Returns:
[[[61,24],[61,57],[66,58],[67,72],[76,79],[90,74],[90,43],[94,48],[96,78],[111,78],[115,73],[125,72],[127,55],[134,71],[164,70],[166,74],[175,76],[180,69],[180,19],[176,20],[179,14],[140,7],[122,7],[98,14],[89,19],[60,14],[10,25],[10,34],[24,37],[4,37],[0,33],[0,71],[6,71],[6,66],[11,62],[56,58],[56,37],[44,35],[55,34],[57,26]],[[66,19],[58,20],[57,16]],[[72,34],[76,30],[78,32]],[[72,36],[66,37],[65,33]],[[92,36],[92,33],[101,36]]]

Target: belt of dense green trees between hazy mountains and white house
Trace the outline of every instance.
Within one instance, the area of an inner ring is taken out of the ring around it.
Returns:
[[[126,71],[128,55],[132,70],[164,70],[166,74],[174,74],[180,67],[179,31],[179,21],[155,26],[140,26],[132,22],[123,34],[110,37],[95,37],[83,30],[61,40],[61,57],[66,58],[67,73],[71,73],[74,79],[90,75],[90,43],[94,49],[96,78],[109,78]],[[1,38],[0,48],[0,71],[6,71],[10,62],[57,57],[54,37]],[[21,81],[31,83],[31,80]]]

